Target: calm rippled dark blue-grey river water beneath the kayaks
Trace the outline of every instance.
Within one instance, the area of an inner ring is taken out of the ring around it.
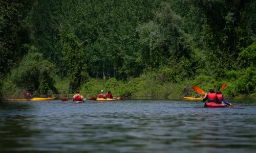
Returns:
[[[0,152],[256,152],[256,101],[0,101]]]

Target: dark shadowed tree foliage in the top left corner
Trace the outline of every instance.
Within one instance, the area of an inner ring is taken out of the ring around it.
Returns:
[[[22,45],[29,43],[28,12],[33,1],[0,1],[0,77],[14,68],[26,54]]]

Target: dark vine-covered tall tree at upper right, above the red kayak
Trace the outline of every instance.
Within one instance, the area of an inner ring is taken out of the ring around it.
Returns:
[[[238,67],[239,53],[255,38],[251,33],[250,16],[255,16],[255,2],[228,0],[190,0],[204,15],[204,39],[209,68],[215,77]],[[254,4],[254,5],[253,5]],[[249,25],[249,26],[248,26]],[[255,24],[254,24],[255,27]],[[255,31],[255,30],[254,30]]]

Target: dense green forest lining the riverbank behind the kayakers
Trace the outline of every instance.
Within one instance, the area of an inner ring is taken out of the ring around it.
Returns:
[[[256,1],[1,0],[0,98],[256,96]]]

